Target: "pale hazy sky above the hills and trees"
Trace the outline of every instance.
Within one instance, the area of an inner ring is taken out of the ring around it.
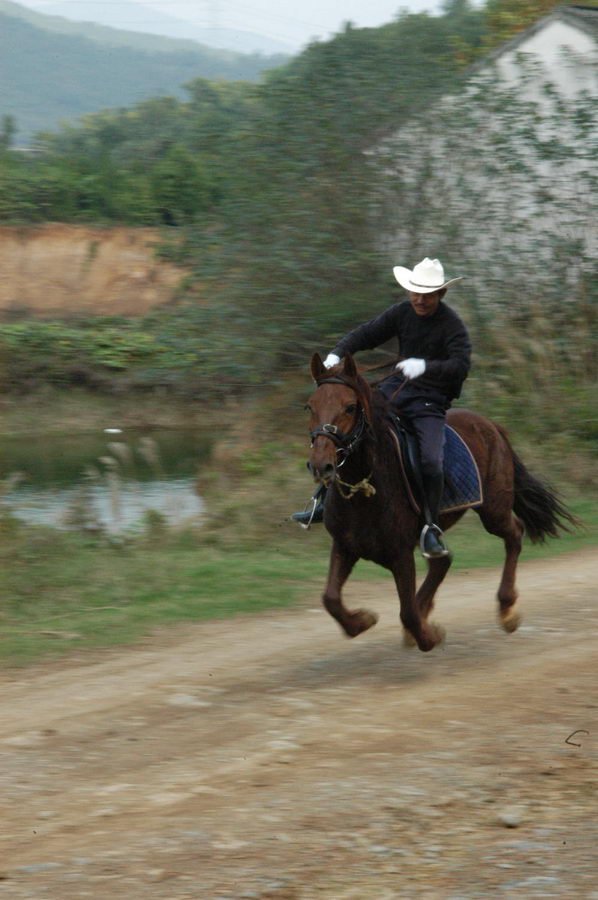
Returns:
[[[17,0],[44,12],[56,0]],[[85,3],[85,0],[68,0]],[[347,20],[361,26],[391,22],[401,9],[438,13],[442,0],[140,0],[171,16],[200,26],[254,31],[300,47],[311,38],[326,38]],[[102,0],[109,10],[119,0]]]

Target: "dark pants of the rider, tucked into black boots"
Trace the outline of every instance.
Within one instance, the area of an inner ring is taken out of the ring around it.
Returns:
[[[419,444],[424,478],[442,475],[446,402],[441,397],[414,394],[411,384],[396,394],[402,383],[402,378],[391,376],[378,385],[378,390],[390,400],[396,414],[401,419],[408,420],[413,427]]]

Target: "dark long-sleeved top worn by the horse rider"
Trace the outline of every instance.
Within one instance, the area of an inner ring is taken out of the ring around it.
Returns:
[[[433,315],[418,316],[409,300],[404,300],[358,325],[332,352],[342,359],[347,353],[372,350],[393,337],[398,338],[401,359],[426,361],[426,371],[409,384],[409,393],[441,397],[450,406],[461,393],[471,365],[471,341],[457,313],[441,301]],[[400,370],[396,376],[400,377]]]

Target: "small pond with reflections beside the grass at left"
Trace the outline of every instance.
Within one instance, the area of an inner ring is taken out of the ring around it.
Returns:
[[[171,524],[199,521],[195,483],[209,451],[205,436],[179,429],[0,437],[0,501],[59,528],[120,532],[150,510]]]

